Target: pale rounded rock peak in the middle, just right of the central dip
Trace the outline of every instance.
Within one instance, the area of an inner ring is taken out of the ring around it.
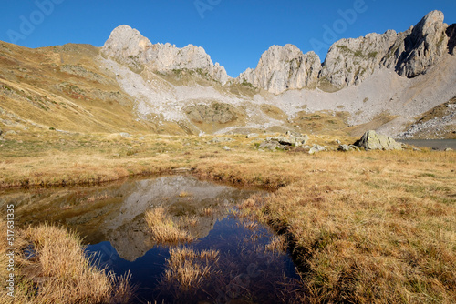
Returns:
[[[247,69],[237,80],[278,94],[287,89],[316,86],[320,70],[320,58],[314,52],[303,54],[293,45],[271,46],[256,68]]]

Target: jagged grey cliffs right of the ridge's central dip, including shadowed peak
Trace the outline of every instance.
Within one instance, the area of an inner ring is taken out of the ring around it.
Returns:
[[[356,86],[380,67],[415,77],[436,65],[446,52],[454,54],[455,25],[444,24],[443,18],[443,13],[433,11],[403,33],[389,30],[341,39],[329,48],[323,66],[313,52],[304,55],[296,46],[271,46],[258,66],[247,69],[237,80],[279,94],[322,83],[337,88]]]

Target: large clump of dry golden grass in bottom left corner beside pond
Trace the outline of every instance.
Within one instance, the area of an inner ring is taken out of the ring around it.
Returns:
[[[0,226],[3,231],[5,222]],[[130,275],[118,277],[92,266],[80,239],[64,228],[16,230],[15,245],[15,299],[2,292],[2,303],[127,303],[132,296]],[[2,258],[5,248],[0,249]],[[2,268],[2,279],[5,275]]]

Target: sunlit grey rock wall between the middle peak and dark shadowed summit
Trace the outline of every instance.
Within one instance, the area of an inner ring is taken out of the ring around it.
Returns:
[[[397,38],[388,31],[337,41],[329,48],[320,78],[337,87],[358,85],[374,73]]]

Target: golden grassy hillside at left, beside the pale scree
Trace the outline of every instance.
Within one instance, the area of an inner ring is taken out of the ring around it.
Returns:
[[[74,132],[154,131],[138,122],[133,100],[86,45],[38,49],[0,42],[0,118],[7,129],[55,127]]]

